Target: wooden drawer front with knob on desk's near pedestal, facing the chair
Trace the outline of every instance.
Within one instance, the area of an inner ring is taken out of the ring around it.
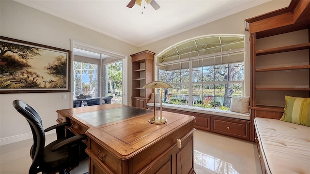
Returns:
[[[96,161],[100,161],[99,165],[102,166],[102,169],[106,169],[107,173],[112,171],[112,173],[122,174],[122,161],[92,139],[90,139],[90,153],[97,159]]]

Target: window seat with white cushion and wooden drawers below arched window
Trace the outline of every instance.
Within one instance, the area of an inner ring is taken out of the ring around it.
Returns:
[[[147,109],[153,109],[154,103],[147,103],[146,106]],[[159,108],[160,103],[156,103],[156,110],[159,110]],[[220,133],[249,141],[249,114],[167,103],[162,103],[162,110],[195,116],[194,128],[196,129]]]

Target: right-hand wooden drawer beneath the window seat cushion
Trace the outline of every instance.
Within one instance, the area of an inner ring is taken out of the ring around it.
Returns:
[[[249,138],[249,123],[243,120],[211,117],[211,131],[230,135],[236,138]]]

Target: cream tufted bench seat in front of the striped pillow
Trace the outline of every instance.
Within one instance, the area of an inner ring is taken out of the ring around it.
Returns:
[[[310,173],[310,127],[278,119],[254,119],[263,174]]]

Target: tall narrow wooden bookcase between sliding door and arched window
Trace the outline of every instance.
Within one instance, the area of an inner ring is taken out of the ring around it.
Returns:
[[[154,79],[154,55],[145,50],[131,56],[132,60],[132,97],[134,107],[146,108],[146,103],[151,99],[153,89],[144,89],[143,86],[153,82]]]

